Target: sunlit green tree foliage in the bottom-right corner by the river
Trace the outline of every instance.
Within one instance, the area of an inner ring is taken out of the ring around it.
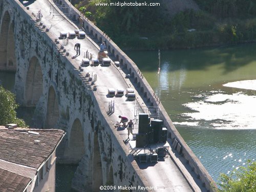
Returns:
[[[220,191],[232,191],[232,192],[254,192],[256,191],[256,162],[251,160],[247,161],[246,167],[239,167],[234,169],[230,176],[221,174],[220,178]]]

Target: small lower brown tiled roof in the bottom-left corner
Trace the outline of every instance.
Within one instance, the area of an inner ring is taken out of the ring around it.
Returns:
[[[1,192],[21,192],[30,183],[31,178],[27,178],[8,170],[0,168],[0,191]]]

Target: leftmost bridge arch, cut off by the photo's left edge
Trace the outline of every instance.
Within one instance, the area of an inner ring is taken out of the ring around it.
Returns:
[[[15,42],[11,15],[6,11],[0,31],[0,70],[16,72]]]

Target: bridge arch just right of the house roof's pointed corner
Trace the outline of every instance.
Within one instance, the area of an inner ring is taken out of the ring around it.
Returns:
[[[83,129],[81,121],[77,118],[74,120],[69,135],[69,155],[74,163],[78,163],[85,154]]]

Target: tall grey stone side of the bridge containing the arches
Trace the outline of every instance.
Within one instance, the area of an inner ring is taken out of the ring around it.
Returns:
[[[54,37],[17,0],[0,0],[0,17],[0,36],[6,36],[0,45],[8,39],[7,50],[14,51],[4,51],[3,58],[16,63],[12,71],[17,101],[34,110],[34,127],[67,132],[57,162],[78,164],[72,187],[99,191],[100,185],[147,186],[122,139],[115,136],[104,106],[70,58],[59,51]],[[8,71],[6,66],[0,63],[0,70]]]

